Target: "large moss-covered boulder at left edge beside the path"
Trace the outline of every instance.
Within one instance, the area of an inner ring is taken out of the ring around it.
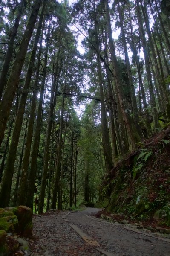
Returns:
[[[0,230],[32,236],[32,209],[26,206],[0,208]]]

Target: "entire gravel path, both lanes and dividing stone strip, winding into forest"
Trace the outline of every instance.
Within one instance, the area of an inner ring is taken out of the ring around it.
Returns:
[[[170,255],[170,242],[90,217],[97,211],[98,209],[87,208],[69,215],[66,215],[67,212],[52,212],[49,215],[35,216],[33,233],[36,242],[32,242],[31,255]]]

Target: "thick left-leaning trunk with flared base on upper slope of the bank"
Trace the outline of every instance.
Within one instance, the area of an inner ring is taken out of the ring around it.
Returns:
[[[109,47],[110,47],[110,53],[111,53],[111,58],[112,58],[112,65],[113,65],[114,73],[115,73],[115,81],[116,81],[116,87],[117,87],[117,91],[118,91],[118,98],[119,98],[119,101],[121,104],[121,112],[122,112],[122,116],[124,117],[124,121],[126,123],[128,135],[130,137],[133,148],[135,148],[136,143],[138,143],[141,140],[141,138],[138,134],[138,131],[135,128],[135,125],[133,124],[133,119],[130,117],[130,115],[128,113],[127,100],[124,96],[123,87],[121,84],[120,74],[119,74],[119,70],[118,70],[118,62],[117,62],[116,55],[115,55],[115,47],[114,47],[113,38],[112,38],[112,29],[111,29],[111,22],[110,22],[108,0],[105,0],[104,2],[105,2],[105,9],[106,9]]]

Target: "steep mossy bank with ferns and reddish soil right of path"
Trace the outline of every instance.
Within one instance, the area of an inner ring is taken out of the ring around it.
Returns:
[[[170,225],[170,126],[107,174],[95,207],[131,219]]]

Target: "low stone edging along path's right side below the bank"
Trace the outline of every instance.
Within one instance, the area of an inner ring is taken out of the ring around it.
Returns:
[[[104,221],[104,220],[101,220],[101,219],[99,219],[99,218],[92,217],[92,216],[88,216],[88,215],[86,215],[86,217],[87,217],[87,218],[91,218],[91,219],[96,220],[96,221],[100,221],[100,222],[104,222],[104,223],[110,224],[110,225],[112,225],[112,226],[119,226],[119,227],[122,227],[122,228],[124,228],[124,229],[126,229],[126,230],[130,230],[130,231],[133,231],[133,232],[136,232],[136,233],[145,235],[145,236],[150,236],[150,237],[153,237],[153,238],[156,238],[156,239],[160,239],[160,240],[162,240],[162,241],[165,241],[165,242],[170,243],[170,239],[166,239],[166,238],[161,237],[161,236],[154,236],[153,234],[147,233],[147,231],[146,231],[146,232],[144,232],[144,231],[142,232],[142,231],[137,230],[137,229],[135,229],[135,228],[133,228],[133,227],[126,227],[126,226],[124,226],[124,224],[120,224],[120,223],[118,223],[118,222],[111,223],[111,222],[109,222],[109,221]]]

